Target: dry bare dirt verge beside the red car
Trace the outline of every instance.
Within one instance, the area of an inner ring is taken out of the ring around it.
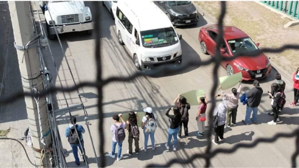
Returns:
[[[194,1],[215,19],[220,14],[219,1]],[[299,25],[284,28],[291,21],[252,1],[226,2],[224,25],[236,26],[248,34],[260,47],[276,48],[283,44],[299,44]],[[287,49],[282,53],[265,53],[272,62],[289,73],[299,67],[298,50]]]

